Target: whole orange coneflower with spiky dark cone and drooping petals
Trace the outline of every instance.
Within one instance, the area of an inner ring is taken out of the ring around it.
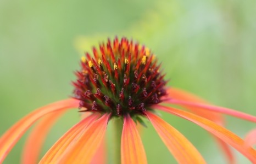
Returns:
[[[113,43],[108,39],[106,45],[99,46],[99,51],[93,48],[93,57],[86,53],[81,58],[81,70],[75,74],[74,97],[36,109],[3,134],[0,138],[0,163],[25,131],[43,118],[30,134],[23,152],[23,163],[36,163],[47,131],[70,108],[79,108],[79,112],[85,113],[85,118],[70,128],[40,163],[90,163],[96,151],[103,150],[98,148],[110,120],[115,120],[115,124],[121,127],[116,128],[117,135],[121,133],[120,140],[116,140],[116,145],[120,145],[116,157],[120,157],[121,163],[147,163],[136,128],[137,122],[145,124],[142,118],[151,121],[177,162],[205,163],[186,137],[155,114],[156,110],[189,120],[212,133],[229,163],[235,163],[229,145],[256,163],[256,151],[248,142],[223,127],[221,114],[252,122],[256,122],[256,117],[213,106],[191,93],[167,87],[157,58],[145,46],[126,38],[120,42],[115,38]],[[169,106],[174,104],[190,112]]]

